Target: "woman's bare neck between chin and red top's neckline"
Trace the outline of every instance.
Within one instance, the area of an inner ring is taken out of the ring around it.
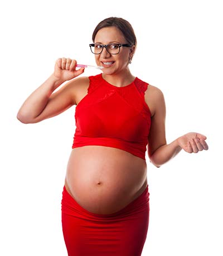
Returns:
[[[132,83],[135,77],[130,73],[130,70],[125,70],[122,73],[106,75],[102,74],[103,79],[108,81],[108,83],[113,84],[117,87],[122,87]]]

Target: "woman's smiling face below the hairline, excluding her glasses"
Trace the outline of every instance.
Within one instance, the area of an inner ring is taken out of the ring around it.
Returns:
[[[128,44],[123,33],[117,27],[104,27],[96,33],[94,44]],[[129,59],[134,52],[132,47],[120,47],[119,54],[109,54],[105,47],[101,54],[95,54],[95,61],[98,66],[103,66],[103,73],[106,75],[123,73],[128,70]]]

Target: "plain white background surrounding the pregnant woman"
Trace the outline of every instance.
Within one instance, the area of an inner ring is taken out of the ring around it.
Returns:
[[[110,16],[135,30],[132,74],[163,91],[167,143],[198,132],[209,144],[209,151],[181,151],[161,168],[147,156],[151,212],[142,256],[223,255],[220,2],[1,3],[1,255],[67,255],[61,197],[75,106],[36,124],[16,115],[57,58],[94,65],[91,34]],[[99,73],[85,69],[83,75]]]

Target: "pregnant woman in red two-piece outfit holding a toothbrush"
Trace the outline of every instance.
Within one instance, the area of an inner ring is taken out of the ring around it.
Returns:
[[[90,49],[102,73],[76,78],[84,67],[57,59],[54,73],[28,96],[17,118],[37,123],[76,105],[61,201],[68,255],[140,256],[149,225],[147,145],[156,167],[181,149],[197,153],[208,146],[195,132],[167,144],[162,91],[129,70],[137,40],[128,21],[106,18],[92,38]]]

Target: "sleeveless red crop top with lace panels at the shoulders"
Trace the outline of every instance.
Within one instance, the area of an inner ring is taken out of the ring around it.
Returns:
[[[135,78],[124,87],[109,84],[102,74],[89,76],[88,94],[76,105],[72,148],[105,146],[145,158],[151,112],[144,100],[148,83]]]

